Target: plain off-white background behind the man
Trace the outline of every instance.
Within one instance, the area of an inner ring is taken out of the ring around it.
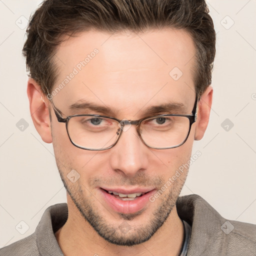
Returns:
[[[33,233],[48,206],[66,202],[52,144],[37,134],[26,95],[21,49],[40,2],[0,0],[0,247]],[[256,0],[207,3],[217,32],[213,103],[181,195],[199,194],[223,217],[256,224]],[[20,130],[22,118],[28,126]]]

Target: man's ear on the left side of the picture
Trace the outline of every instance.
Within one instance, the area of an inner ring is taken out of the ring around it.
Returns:
[[[34,79],[28,78],[27,81],[27,96],[29,99],[30,114],[34,126],[46,143],[52,142],[49,109],[44,101],[43,93],[40,86]]]

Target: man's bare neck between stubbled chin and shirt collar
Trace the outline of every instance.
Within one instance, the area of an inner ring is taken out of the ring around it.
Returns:
[[[84,220],[70,198],[67,198],[68,218],[55,232],[57,242],[65,256],[100,255],[168,255],[178,256],[183,245],[184,229],[182,220],[173,207],[163,225],[147,241],[134,246],[120,246],[104,240]]]

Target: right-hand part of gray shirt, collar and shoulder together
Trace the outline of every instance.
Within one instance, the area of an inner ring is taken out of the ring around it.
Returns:
[[[176,202],[180,218],[192,226],[190,255],[256,255],[256,225],[222,217],[196,194]]]

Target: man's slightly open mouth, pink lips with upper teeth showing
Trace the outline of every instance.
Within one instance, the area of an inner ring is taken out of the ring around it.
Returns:
[[[149,202],[149,197],[156,189],[109,189],[99,188],[105,202],[112,210],[119,213],[135,213],[145,208]]]

